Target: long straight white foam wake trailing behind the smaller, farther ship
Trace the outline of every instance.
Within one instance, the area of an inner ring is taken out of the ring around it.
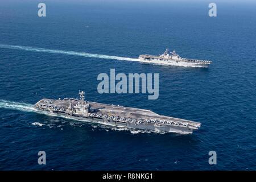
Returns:
[[[101,58],[101,59],[113,59],[113,60],[121,60],[121,61],[139,61],[139,59],[130,58],[130,57],[98,55],[98,54],[95,54],[95,53],[75,52],[75,51],[61,51],[61,50],[57,50],[57,49],[44,49],[44,48],[27,47],[27,46],[13,46],[13,45],[8,45],[8,44],[0,44],[0,48],[18,49],[18,50],[34,51],[34,52],[59,53],[59,54],[64,54],[64,55],[96,57],[96,58]]]

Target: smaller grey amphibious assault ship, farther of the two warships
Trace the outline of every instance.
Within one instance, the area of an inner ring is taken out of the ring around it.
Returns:
[[[168,52],[169,49],[167,48],[166,51],[159,56],[140,55],[139,60],[143,63],[201,68],[208,68],[208,66],[212,63],[212,61],[208,60],[182,58],[179,55],[177,55],[175,51],[170,52],[170,54]]]

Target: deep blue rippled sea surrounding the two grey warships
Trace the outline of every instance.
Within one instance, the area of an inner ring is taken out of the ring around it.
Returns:
[[[0,2],[1,170],[255,170],[256,3],[217,1]],[[23,46],[23,48],[11,48]],[[1,47],[2,46],[2,47]],[[28,47],[28,48],[26,48]],[[212,60],[166,67],[67,54],[137,58],[166,48]],[[31,51],[31,48],[62,53]],[[99,94],[97,76],[159,73],[159,98]],[[201,122],[192,135],[136,133],[35,113],[42,98],[77,97]],[[38,151],[46,151],[46,165]],[[209,165],[209,151],[217,165]]]

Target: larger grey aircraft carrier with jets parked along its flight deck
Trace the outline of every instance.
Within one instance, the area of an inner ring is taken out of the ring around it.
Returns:
[[[55,116],[102,125],[126,127],[138,130],[162,131],[164,133],[192,134],[201,123],[185,119],[158,115],[151,110],[100,104],[84,100],[84,92],[78,98],[53,100],[43,98],[35,104],[35,109]]]

